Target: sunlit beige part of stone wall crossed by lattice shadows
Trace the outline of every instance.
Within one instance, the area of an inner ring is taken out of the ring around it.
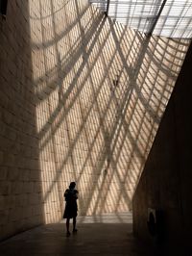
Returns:
[[[188,41],[147,38],[85,0],[29,4],[45,219],[70,181],[81,215],[128,211]]]

